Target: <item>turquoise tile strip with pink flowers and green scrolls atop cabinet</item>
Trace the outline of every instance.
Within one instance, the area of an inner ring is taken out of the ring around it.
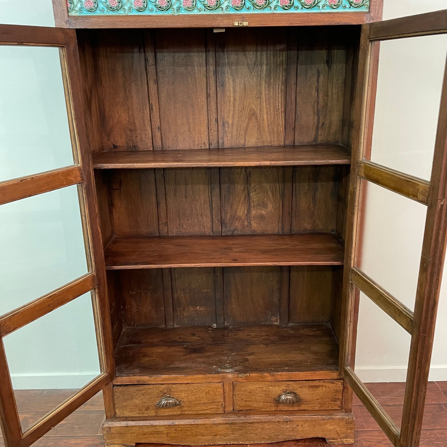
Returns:
[[[70,16],[368,12],[370,0],[66,0]]]

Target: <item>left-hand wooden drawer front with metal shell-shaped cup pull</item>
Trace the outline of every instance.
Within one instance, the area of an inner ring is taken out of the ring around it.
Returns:
[[[223,384],[114,387],[117,417],[223,413]]]

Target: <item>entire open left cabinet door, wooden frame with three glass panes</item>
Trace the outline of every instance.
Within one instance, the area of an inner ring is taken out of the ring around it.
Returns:
[[[0,42],[0,415],[27,447],[113,357],[76,32],[0,25]]]

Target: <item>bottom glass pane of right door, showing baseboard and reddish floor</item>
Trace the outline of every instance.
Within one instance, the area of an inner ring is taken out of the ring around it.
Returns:
[[[410,343],[411,335],[361,293],[354,371],[397,426],[402,421]],[[353,403],[356,421],[362,421],[365,430],[378,430],[360,401]]]

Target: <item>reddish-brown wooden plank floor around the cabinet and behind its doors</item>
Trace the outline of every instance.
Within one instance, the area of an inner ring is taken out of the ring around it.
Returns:
[[[368,384],[372,394],[378,399],[386,411],[400,425],[402,403],[404,396],[403,384]],[[49,403],[55,402],[48,393],[45,402],[39,403],[38,396],[33,394],[26,399],[23,392],[17,398],[20,407],[28,409],[23,413],[22,424],[32,423],[42,416],[42,409],[46,410]],[[63,396],[64,398],[65,396]],[[62,398],[62,400],[63,400]],[[22,406],[23,405],[23,406]],[[41,411],[39,411],[41,410]],[[392,444],[381,432],[379,426],[369,415],[365,407],[354,397],[353,411],[355,414],[355,443],[354,447],[390,447]],[[101,394],[94,396],[79,410],[67,417],[58,426],[53,428],[46,436],[34,444],[35,447],[101,447],[101,423],[104,418],[104,407]],[[4,444],[0,438],[0,447]],[[430,382],[424,417],[424,430],[420,447],[447,446],[447,382]]]

